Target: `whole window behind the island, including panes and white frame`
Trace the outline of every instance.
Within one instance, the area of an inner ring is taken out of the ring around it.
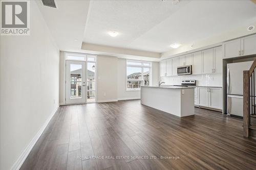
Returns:
[[[151,84],[151,62],[126,60],[126,90],[139,90]]]

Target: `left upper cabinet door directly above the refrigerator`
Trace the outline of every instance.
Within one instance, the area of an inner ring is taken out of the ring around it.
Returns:
[[[223,58],[238,57],[240,55],[241,55],[240,38],[223,43]]]

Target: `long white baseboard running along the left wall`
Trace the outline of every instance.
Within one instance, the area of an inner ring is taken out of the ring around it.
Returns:
[[[12,165],[11,169],[14,169],[14,170],[17,169],[18,170],[20,167],[22,167],[22,164],[24,163],[24,161],[28,157],[30,151],[32,150],[32,148],[34,147],[35,143],[37,142],[37,140],[41,136],[42,132],[44,132],[44,130],[46,129],[47,125],[49,124],[50,120],[52,119],[53,115],[56,113],[58,108],[59,108],[59,106],[51,113],[51,115],[46,120],[45,124],[40,128],[40,130],[36,133],[36,135],[33,137],[33,139],[27,145],[25,150],[22,152],[22,154],[18,157],[16,162]]]

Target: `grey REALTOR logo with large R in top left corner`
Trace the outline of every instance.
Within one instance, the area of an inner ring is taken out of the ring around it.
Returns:
[[[1,35],[29,35],[29,1],[1,1]]]

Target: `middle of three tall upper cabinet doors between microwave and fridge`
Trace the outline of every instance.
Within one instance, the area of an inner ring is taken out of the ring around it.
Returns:
[[[214,49],[210,48],[202,51],[203,74],[210,74],[214,71]]]

